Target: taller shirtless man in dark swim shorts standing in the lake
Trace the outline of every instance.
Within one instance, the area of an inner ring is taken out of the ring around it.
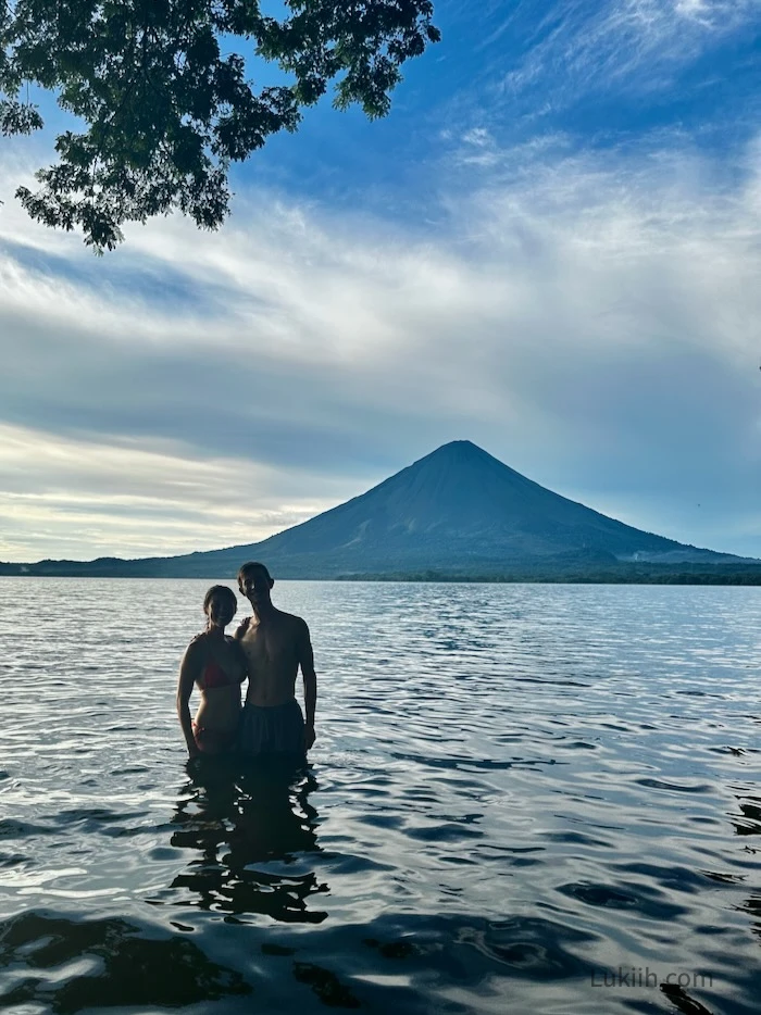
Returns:
[[[305,755],[314,743],[317,677],[301,617],[273,605],[274,586],[264,564],[249,562],[238,572],[238,588],[253,609],[235,632],[248,663],[248,691],[240,720],[239,749],[248,755]],[[307,720],[296,700],[301,666]]]

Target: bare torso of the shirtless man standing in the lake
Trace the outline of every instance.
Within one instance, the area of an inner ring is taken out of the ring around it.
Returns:
[[[278,610],[264,621],[254,614],[242,634],[236,632],[248,663],[247,704],[272,707],[296,697],[305,629],[300,617]]]

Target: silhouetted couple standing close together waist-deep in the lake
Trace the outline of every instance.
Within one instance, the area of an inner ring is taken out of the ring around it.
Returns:
[[[301,617],[273,604],[274,584],[264,564],[244,564],[238,588],[253,614],[233,638],[225,627],[238,609],[235,592],[224,585],[207,592],[207,629],[188,646],[177,686],[177,715],[191,759],[233,751],[246,757],[303,759],[314,743],[317,678],[309,628]],[[305,720],[296,700],[299,666]],[[241,710],[240,685],[247,678]],[[194,685],[201,692],[195,719],[189,706]]]

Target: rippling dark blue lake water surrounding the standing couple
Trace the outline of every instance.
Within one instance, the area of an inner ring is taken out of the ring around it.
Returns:
[[[289,781],[185,768],[210,584],[0,579],[0,1007],[759,1010],[761,589],[278,582]]]

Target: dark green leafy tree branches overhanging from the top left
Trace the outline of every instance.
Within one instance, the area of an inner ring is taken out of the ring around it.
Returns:
[[[17,0],[0,8],[0,131],[42,117],[28,85],[84,125],[57,138],[57,164],[18,187],[33,218],[79,228],[97,252],[121,226],[179,209],[215,229],[228,171],[335,83],[334,105],[385,115],[406,60],[438,41],[431,0]],[[274,7],[274,4],[271,4]],[[257,87],[247,60],[286,84]]]

